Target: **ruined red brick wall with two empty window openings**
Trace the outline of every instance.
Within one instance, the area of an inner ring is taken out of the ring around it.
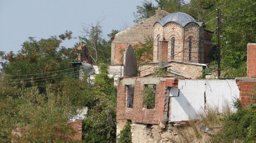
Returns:
[[[153,78],[148,79],[152,80]],[[131,84],[131,82],[129,82],[129,84]],[[150,84],[150,82],[147,84]],[[121,80],[117,88],[117,123],[124,119],[132,120],[133,123],[146,124],[158,124],[159,121],[163,121],[163,113],[168,111],[164,109],[165,89],[167,87],[177,86],[178,80],[174,80],[174,78],[159,82],[156,85],[155,108],[144,109],[145,103],[142,98],[144,84],[136,80],[134,82],[133,108],[126,108],[126,86],[124,80]]]

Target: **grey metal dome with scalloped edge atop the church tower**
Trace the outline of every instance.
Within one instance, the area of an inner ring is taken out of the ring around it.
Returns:
[[[157,21],[157,22],[159,22],[162,26],[165,26],[165,24],[167,24],[169,22],[175,22],[182,27],[185,27],[190,22],[195,22],[199,26],[202,26],[202,24],[203,24],[203,22],[196,22],[196,20],[192,16],[188,15],[187,13],[183,13],[183,12],[170,13],[169,15],[165,16],[162,20]],[[153,26],[157,22],[154,22]]]

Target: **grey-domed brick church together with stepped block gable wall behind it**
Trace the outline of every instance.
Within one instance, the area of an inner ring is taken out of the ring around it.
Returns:
[[[150,77],[154,65],[165,62],[172,75],[197,78],[210,62],[207,54],[212,45],[212,32],[205,28],[203,22],[196,22],[186,13],[167,13],[158,8],[155,16],[116,34],[112,40],[112,62],[124,63],[122,49],[152,36],[153,60],[139,64],[140,76]]]

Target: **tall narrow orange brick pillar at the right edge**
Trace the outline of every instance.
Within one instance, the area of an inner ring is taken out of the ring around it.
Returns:
[[[247,77],[256,77],[256,43],[247,44]]]

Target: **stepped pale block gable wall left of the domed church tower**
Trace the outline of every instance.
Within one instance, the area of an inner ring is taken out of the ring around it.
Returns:
[[[155,16],[151,16],[150,18],[131,26],[130,28],[117,33],[112,42],[114,44],[111,46],[111,54],[114,54],[111,62],[113,62],[114,65],[123,63],[123,60],[121,59],[123,53],[120,53],[120,51],[124,50],[128,44],[134,46],[139,42],[145,43],[145,38],[147,38],[147,36],[153,36],[153,22],[161,20],[168,14],[168,12],[158,9],[156,10]]]

